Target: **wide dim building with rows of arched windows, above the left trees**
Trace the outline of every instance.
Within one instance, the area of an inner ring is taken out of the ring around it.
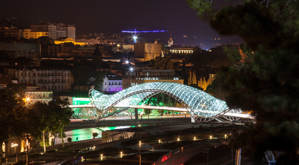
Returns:
[[[16,70],[16,78],[20,83],[32,83],[38,85],[42,90],[53,90],[61,92],[71,89],[74,77],[70,70],[37,70],[22,69]]]

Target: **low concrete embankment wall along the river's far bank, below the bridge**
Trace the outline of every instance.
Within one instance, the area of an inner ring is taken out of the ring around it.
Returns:
[[[169,124],[169,123],[190,123],[191,119],[188,118],[163,118],[163,119],[139,119],[139,120],[100,120],[100,121],[84,121],[84,122],[71,122],[65,128],[78,128],[78,127],[100,127],[100,126],[126,126],[126,125],[155,125],[155,124]]]

